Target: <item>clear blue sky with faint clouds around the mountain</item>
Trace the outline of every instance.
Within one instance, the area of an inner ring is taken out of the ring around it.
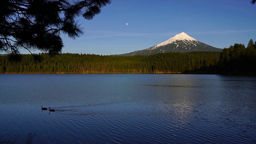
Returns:
[[[217,48],[256,40],[250,0],[112,0],[93,20],[78,20],[85,33],[63,36],[63,53],[124,54],[181,32]]]

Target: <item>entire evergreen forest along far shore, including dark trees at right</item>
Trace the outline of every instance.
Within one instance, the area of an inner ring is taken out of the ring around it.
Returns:
[[[35,59],[36,56],[36,59]],[[0,73],[256,73],[256,42],[234,44],[222,52],[170,52],[150,56],[96,54],[25,54],[21,60],[0,56]]]

